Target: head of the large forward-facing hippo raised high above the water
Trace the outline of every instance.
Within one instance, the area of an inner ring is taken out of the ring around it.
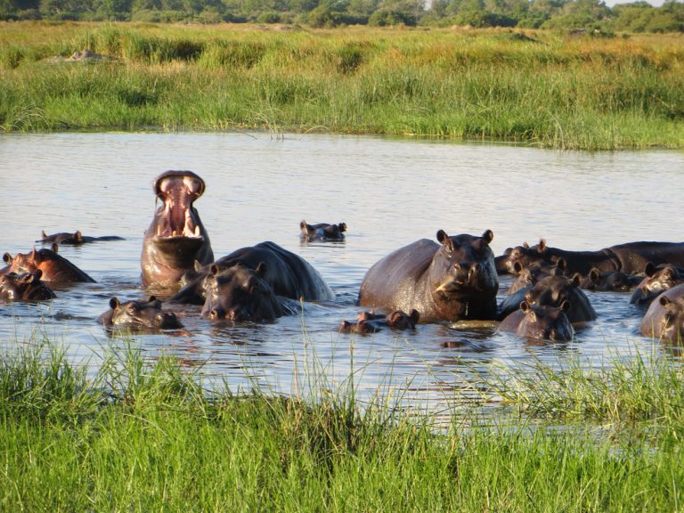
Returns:
[[[488,319],[496,313],[499,277],[489,243],[493,232],[482,237],[461,234],[450,237],[440,230],[428,269],[428,286],[436,309],[444,319]]]

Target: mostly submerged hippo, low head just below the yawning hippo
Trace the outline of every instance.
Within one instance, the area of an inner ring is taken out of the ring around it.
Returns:
[[[151,296],[147,301],[110,299],[110,309],[97,318],[105,327],[117,326],[134,330],[178,330],[183,324],[173,312],[164,312],[161,301]]]

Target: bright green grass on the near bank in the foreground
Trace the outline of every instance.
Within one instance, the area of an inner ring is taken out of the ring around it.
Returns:
[[[681,431],[649,428],[681,427],[664,411],[631,419],[650,436],[459,419],[436,434],[344,391],[323,397],[210,393],[130,347],[111,347],[94,374],[50,344],[15,350],[0,365],[0,509],[677,511],[684,500]]]

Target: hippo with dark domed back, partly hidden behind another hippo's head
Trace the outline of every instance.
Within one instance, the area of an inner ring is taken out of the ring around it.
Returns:
[[[183,275],[186,283],[169,300],[177,303],[202,305],[206,300],[206,280],[216,265],[218,273],[233,265],[245,265],[256,269],[265,264],[265,280],[277,296],[305,301],[330,301],[335,298],[321,274],[301,256],[295,255],[271,241],[260,242],[255,246],[236,249],[230,255],[222,256],[212,265],[199,265]],[[214,273],[216,275],[216,273]]]

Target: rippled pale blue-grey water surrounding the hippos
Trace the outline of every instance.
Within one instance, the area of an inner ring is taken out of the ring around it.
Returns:
[[[628,295],[615,293],[588,293],[599,320],[571,343],[531,343],[447,324],[373,336],[338,334],[337,327],[361,311],[354,301],[372,264],[439,229],[491,229],[497,255],[541,237],[577,250],[682,240],[681,152],[558,152],[295,134],[12,134],[0,137],[0,169],[3,252],[27,252],[41,230],[126,238],[62,247],[61,255],[97,283],[57,289],[56,299],[40,305],[0,305],[5,346],[45,331],[75,361],[96,364],[102,346],[112,343],[95,322],[110,297],[147,295],[139,285],[139,258],[155,209],[151,182],[167,169],[190,169],[207,183],[195,206],[216,257],[273,240],[314,265],[338,297],[333,305],[306,305],[302,317],[258,326],[209,322],[188,307],[181,312],[184,330],[135,336],[152,358],[173,354],[185,365],[202,365],[208,377],[235,390],[259,384],[297,392],[317,365],[333,387],[347,383],[354,369],[361,396],[379,391],[440,411],[449,398],[476,397],[472,384],[493,362],[581,357],[598,365],[634,351],[676,353],[641,337],[642,312]],[[346,241],[302,244],[302,219],[345,222]],[[508,284],[502,279],[501,289]]]

